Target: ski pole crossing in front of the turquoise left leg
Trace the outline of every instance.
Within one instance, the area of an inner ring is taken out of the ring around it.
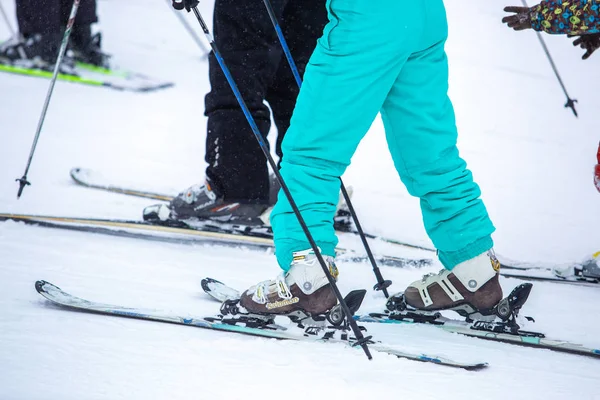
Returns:
[[[184,3],[186,3],[186,4],[184,4]],[[192,4],[190,4],[190,3],[192,3]],[[348,305],[344,301],[344,297],[340,293],[340,290],[337,287],[335,279],[333,279],[333,277],[329,273],[329,269],[327,268],[327,265],[325,264],[323,255],[321,254],[319,247],[317,246],[314,238],[312,237],[312,234],[308,230],[308,226],[306,225],[306,222],[304,221],[304,218],[302,217],[302,214],[300,213],[300,210],[298,209],[298,206],[297,206],[296,202],[294,201],[292,193],[290,192],[285,181],[283,180],[283,177],[281,176],[281,173],[279,172],[279,169],[277,168],[277,164],[275,163],[275,160],[273,160],[273,157],[271,157],[269,147],[265,143],[265,140],[262,137],[260,130],[258,129],[258,126],[256,125],[256,122],[254,121],[254,118],[252,117],[252,114],[250,113],[250,110],[248,109],[248,106],[246,105],[246,102],[244,101],[242,94],[240,93],[240,90],[233,79],[233,76],[231,75],[231,72],[229,71],[229,68],[227,68],[227,65],[225,64],[225,61],[223,60],[223,57],[221,56],[221,53],[219,52],[217,44],[215,43],[214,38],[211,35],[210,30],[208,29],[208,26],[204,22],[204,19],[202,18],[200,11],[198,11],[198,7],[197,7],[198,4],[199,4],[198,0],[191,0],[191,1],[190,0],[173,0],[173,7],[176,10],[182,10],[185,8],[188,10],[188,12],[190,10],[192,10],[194,12],[194,14],[196,15],[196,18],[198,19],[198,22],[200,23],[200,26],[202,27],[202,31],[204,32],[207,40],[210,43],[210,47],[212,48],[213,54],[215,55],[215,58],[217,59],[217,62],[219,63],[219,66],[221,67],[221,70],[223,71],[223,74],[225,75],[225,78],[227,79],[229,86],[231,87],[231,90],[233,91],[246,119],[248,120],[248,123],[250,124],[250,128],[252,129],[252,132],[254,133],[254,136],[256,137],[256,140],[258,141],[258,144],[260,145],[261,150],[265,154],[265,157],[267,158],[267,161],[269,162],[271,169],[275,173],[275,176],[277,177],[277,180],[279,181],[279,183],[281,185],[281,189],[283,190],[283,193],[285,194],[286,198],[288,199],[288,201],[292,207],[292,210],[294,211],[294,214],[296,214],[296,217],[298,218],[298,222],[300,223],[300,226],[302,227],[302,230],[304,231],[304,234],[306,235],[306,238],[308,239],[308,242],[310,243],[310,246],[317,257],[319,264],[321,264],[321,268],[323,268],[323,272],[325,272],[325,276],[327,276],[327,280],[329,281],[329,284],[333,288],[335,296],[337,297],[338,301],[340,302],[340,306],[342,307],[342,310],[344,310],[344,315],[346,316],[346,319],[352,329],[352,332],[354,333],[354,336],[356,337],[355,345],[361,346],[363,351],[365,352],[367,358],[369,360],[371,360],[373,357],[371,356],[371,351],[369,350],[369,346],[368,346],[368,343],[369,343],[371,337],[370,336],[365,337],[362,334],[362,331],[358,327],[358,324],[356,323],[354,318],[352,318],[352,312],[350,311],[350,309],[348,308]]]

